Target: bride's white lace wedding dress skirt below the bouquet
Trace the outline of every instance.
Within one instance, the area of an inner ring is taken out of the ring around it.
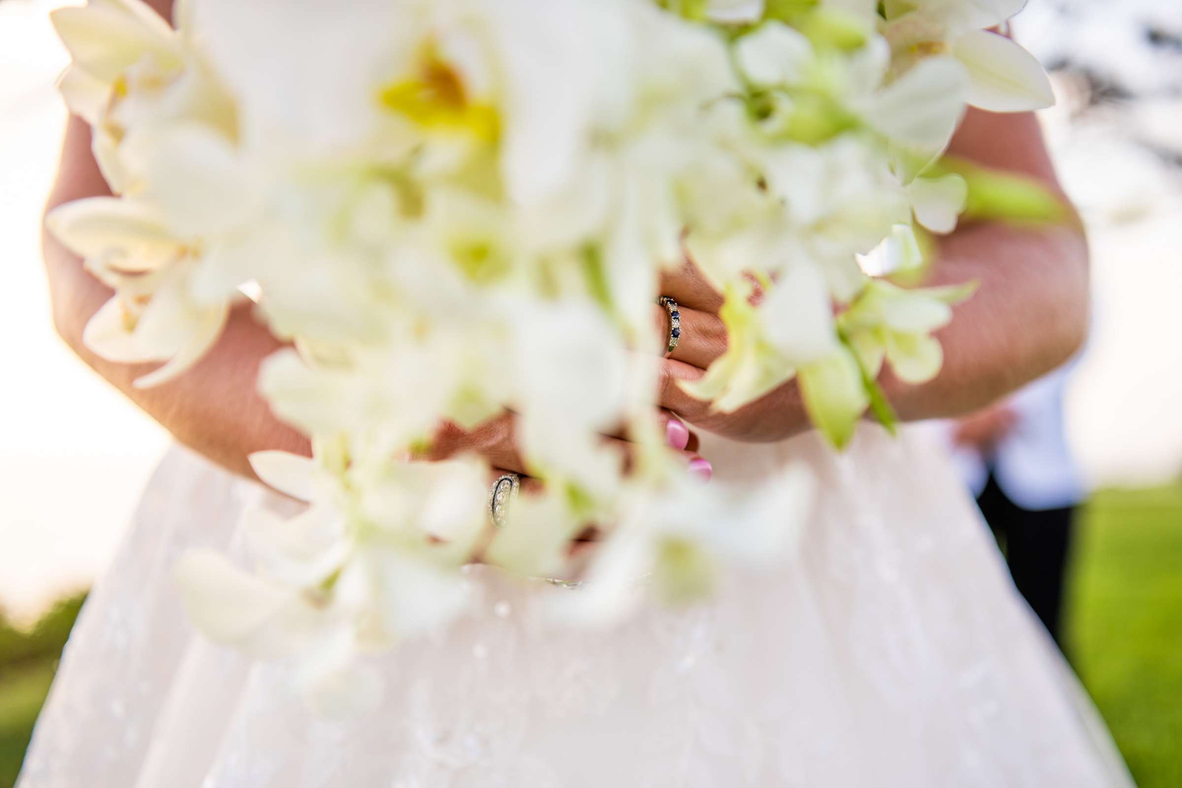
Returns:
[[[799,553],[710,605],[604,633],[541,623],[546,594],[488,569],[479,608],[385,658],[381,705],[319,718],[285,667],[197,637],[171,585],[195,545],[233,546],[261,488],[175,451],[95,587],[20,788],[1109,788],[1131,780],[1011,585],[947,462],[866,426],[713,442],[716,478],[811,463]]]

